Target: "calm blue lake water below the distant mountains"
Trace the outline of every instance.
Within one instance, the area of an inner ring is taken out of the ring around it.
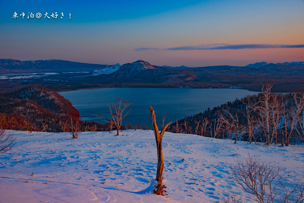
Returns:
[[[92,113],[100,113],[108,118],[107,102],[118,98],[133,101],[132,110],[123,119],[131,125],[151,125],[150,105],[154,108],[156,120],[168,116],[166,122],[175,122],[185,116],[193,115],[215,106],[255,95],[258,92],[242,89],[192,89],[192,88],[101,88],[59,92],[70,100],[80,112],[83,121],[101,122]]]

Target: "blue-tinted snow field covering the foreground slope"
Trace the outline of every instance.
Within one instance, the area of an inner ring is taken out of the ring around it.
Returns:
[[[303,146],[263,146],[165,132],[166,197],[139,192],[155,178],[151,130],[70,133],[9,131],[14,154],[0,154],[0,202],[217,202],[227,187],[253,202],[230,177],[226,161],[256,156],[279,162],[287,181],[303,181]],[[33,173],[33,175],[31,175]],[[288,176],[289,175],[289,176]],[[191,184],[192,183],[192,184]],[[194,183],[194,184],[193,184]]]

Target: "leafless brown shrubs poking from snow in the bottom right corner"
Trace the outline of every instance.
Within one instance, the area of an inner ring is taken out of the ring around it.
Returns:
[[[249,155],[244,161],[237,159],[234,166],[230,163],[227,163],[227,165],[233,179],[257,202],[304,202],[304,184],[297,182],[292,186],[286,180],[285,182],[279,181],[277,176],[281,167],[277,163],[271,164],[270,162],[259,161]],[[227,198],[224,198],[224,200],[227,200]]]

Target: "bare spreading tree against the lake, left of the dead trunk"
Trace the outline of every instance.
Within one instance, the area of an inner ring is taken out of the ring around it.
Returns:
[[[112,125],[116,126],[117,129],[117,135],[119,135],[119,130],[122,125],[123,118],[131,111],[130,105],[132,105],[133,102],[129,102],[128,100],[122,100],[121,98],[118,98],[117,101],[112,101],[111,103],[108,102],[109,107],[109,119],[106,120],[101,114],[98,114],[98,118],[107,122],[109,126]],[[128,112],[126,112],[128,111]],[[125,114],[124,114],[125,113]]]

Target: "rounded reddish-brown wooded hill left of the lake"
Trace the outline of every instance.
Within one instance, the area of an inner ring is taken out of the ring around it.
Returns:
[[[1,118],[9,129],[60,131],[60,121],[79,117],[70,101],[39,85],[0,95]]]

